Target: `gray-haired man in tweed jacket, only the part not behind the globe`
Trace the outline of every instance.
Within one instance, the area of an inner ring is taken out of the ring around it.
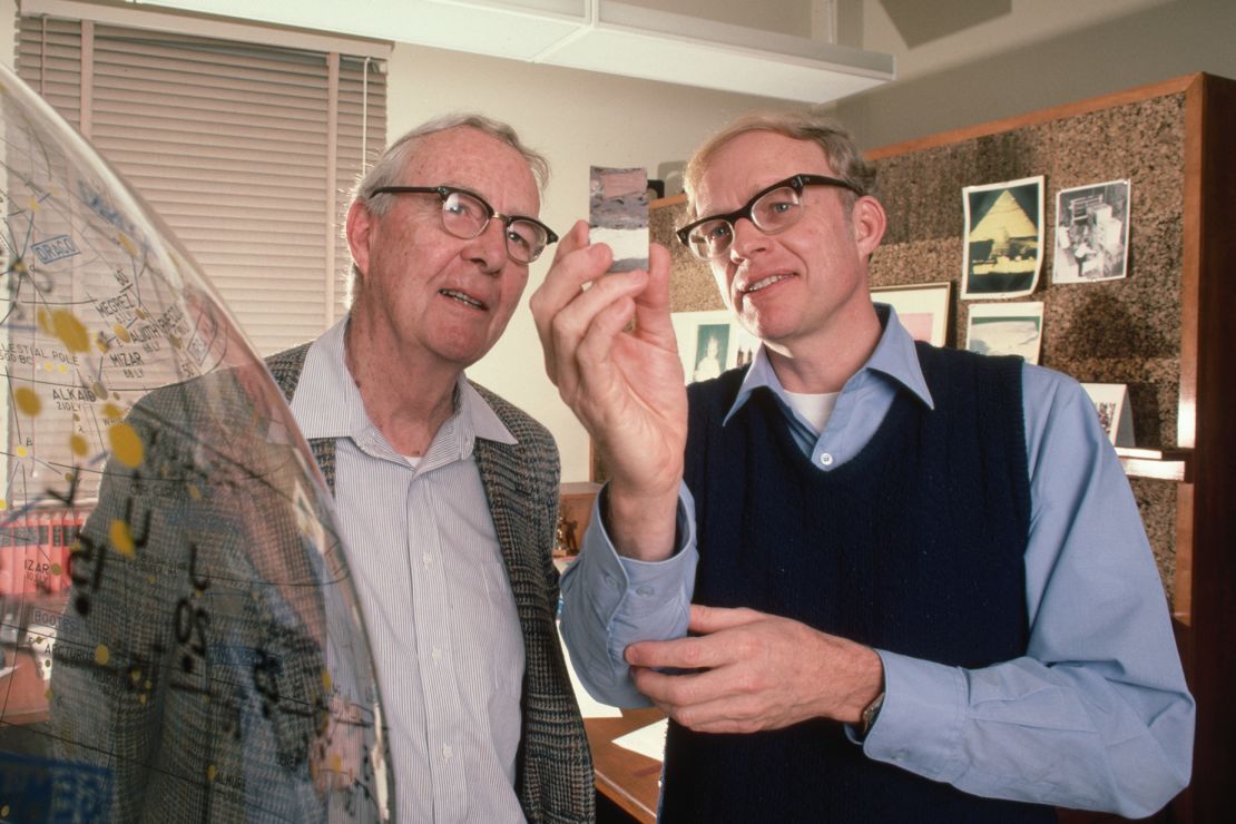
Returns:
[[[557,451],[464,374],[507,327],[528,264],[557,240],[536,220],[546,173],[485,117],[404,135],[347,214],[347,317],[269,358],[337,505],[399,820],[593,814],[554,623]]]

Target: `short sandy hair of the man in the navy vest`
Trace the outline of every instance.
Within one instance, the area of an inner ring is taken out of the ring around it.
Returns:
[[[839,122],[810,111],[758,111],[729,124],[691,156],[682,180],[692,204],[700,180],[721,147],[747,132],[774,132],[794,140],[811,141],[824,149],[824,157],[837,177],[853,183],[864,195],[875,194],[875,167],[863,157],[858,143]],[[849,190],[843,190],[843,195],[847,196],[848,206],[853,206],[859,196]]]

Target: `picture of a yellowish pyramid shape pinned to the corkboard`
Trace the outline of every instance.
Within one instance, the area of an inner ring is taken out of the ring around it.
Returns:
[[[1023,298],[1043,263],[1043,177],[964,187],[962,298]]]

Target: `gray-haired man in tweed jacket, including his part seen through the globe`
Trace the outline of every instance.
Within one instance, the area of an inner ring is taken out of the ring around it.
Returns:
[[[56,645],[53,766],[90,791],[57,804],[122,822],[593,818],[555,629],[557,451],[464,374],[556,240],[536,220],[545,173],[509,127],[454,116],[360,183],[347,317],[268,359],[341,541],[311,526],[326,515],[257,363],[133,406]],[[339,544],[381,715],[356,614],[323,586]]]

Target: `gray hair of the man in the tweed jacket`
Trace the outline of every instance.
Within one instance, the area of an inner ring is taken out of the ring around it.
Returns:
[[[538,190],[544,194],[545,187],[549,184],[549,161],[545,156],[535,149],[529,148],[519,140],[519,135],[509,125],[493,120],[492,117],[486,117],[476,112],[454,112],[449,115],[442,115],[441,117],[435,117],[429,120],[415,128],[405,132],[397,141],[391,143],[382,157],[368,168],[368,170],[357,179],[356,185],[352,187],[352,196],[350,203],[362,203],[365,208],[368,209],[375,215],[384,215],[391,208],[393,201],[393,195],[389,194],[373,194],[375,189],[381,189],[383,187],[399,185],[399,178],[403,175],[403,170],[408,167],[412,161],[413,154],[417,151],[417,146],[429,137],[430,135],[436,135],[438,132],[450,131],[451,128],[475,128],[480,132],[494,137],[510,148],[519,152],[519,154],[528,162],[528,168],[531,169],[533,177],[536,179]],[[353,262],[350,267],[347,278],[347,300],[351,304],[361,288],[361,282],[363,275],[356,268]]]

